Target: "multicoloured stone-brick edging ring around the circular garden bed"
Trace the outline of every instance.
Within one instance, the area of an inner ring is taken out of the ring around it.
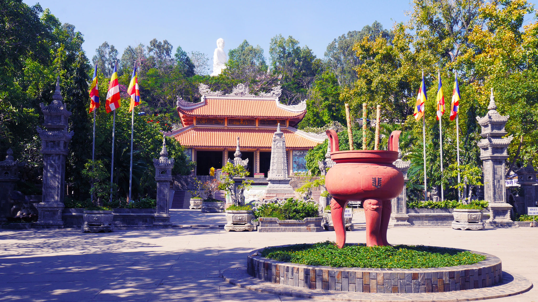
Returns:
[[[279,246],[285,247],[285,246]],[[479,289],[502,281],[501,260],[493,255],[472,265],[423,269],[332,268],[247,256],[247,273],[263,281],[306,289],[370,293],[426,293]],[[463,249],[455,249],[461,250]]]

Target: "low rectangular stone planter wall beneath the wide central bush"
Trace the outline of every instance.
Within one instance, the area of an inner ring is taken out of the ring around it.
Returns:
[[[259,219],[258,232],[322,232],[323,217],[303,220],[280,220],[278,218]]]

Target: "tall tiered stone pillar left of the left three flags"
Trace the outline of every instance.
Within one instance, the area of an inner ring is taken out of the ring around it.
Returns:
[[[39,105],[45,122],[41,124],[44,129],[37,127],[42,141],[41,153],[43,154],[43,200],[36,204],[38,221],[34,224],[38,227],[63,226],[66,157],[73,132],[67,131],[67,120],[71,116],[71,112],[67,111],[62,100],[60,77],[58,76],[51,104],[45,106],[41,103]]]

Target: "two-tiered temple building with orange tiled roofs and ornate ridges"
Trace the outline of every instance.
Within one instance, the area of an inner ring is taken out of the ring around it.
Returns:
[[[286,139],[287,160],[292,163],[288,164],[288,174],[306,172],[307,151],[327,138],[294,128],[305,117],[306,102],[281,104],[280,86],[259,95],[249,94],[244,84],[238,84],[230,94],[211,91],[205,84],[200,84],[199,91],[199,103],[178,97],[183,127],[167,133],[187,148],[187,155],[196,162],[195,175],[209,175],[211,167],[222,168],[233,159],[239,137],[241,158],[249,159],[249,177],[267,177],[273,134],[279,124]]]

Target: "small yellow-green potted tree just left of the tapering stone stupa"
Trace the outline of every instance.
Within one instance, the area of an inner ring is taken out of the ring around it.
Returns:
[[[218,184],[218,189],[226,191],[226,193],[232,197],[233,205],[243,206],[245,204],[243,192],[249,190],[254,181],[251,179],[244,179],[241,184],[237,186],[239,192],[235,192],[235,181],[233,181],[233,178],[245,178],[249,176],[250,172],[245,170],[245,167],[243,166],[233,166],[233,164],[229,162],[222,167],[222,173],[223,175],[221,177],[221,182]],[[226,173],[228,175],[225,175]]]

